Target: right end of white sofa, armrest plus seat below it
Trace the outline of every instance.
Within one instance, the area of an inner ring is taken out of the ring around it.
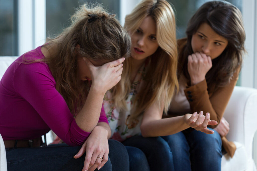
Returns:
[[[257,89],[236,86],[228,102],[224,118],[230,124],[227,139],[237,150],[233,158],[222,157],[222,171],[256,171],[253,160],[253,137],[257,130]],[[257,157],[257,156],[254,156]]]

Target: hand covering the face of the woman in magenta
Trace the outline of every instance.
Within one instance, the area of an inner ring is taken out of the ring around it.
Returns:
[[[107,90],[111,89],[121,80],[123,64],[125,58],[120,58],[112,62],[108,62],[102,66],[94,66],[87,58],[83,58],[86,62],[91,78],[91,87],[96,88],[98,91],[103,91],[105,94]]]

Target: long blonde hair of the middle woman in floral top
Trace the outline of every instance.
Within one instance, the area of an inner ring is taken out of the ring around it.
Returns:
[[[146,73],[146,85],[135,97],[130,121],[139,116],[146,108],[158,102],[164,103],[167,113],[175,87],[178,89],[176,21],[170,4],[165,0],[143,0],[126,15],[125,29],[133,34],[146,16],[151,16],[157,27],[157,51],[149,56],[150,67]],[[121,81],[113,90],[114,104],[120,110],[126,110],[126,98],[131,88],[132,60],[127,58],[123,65]]]

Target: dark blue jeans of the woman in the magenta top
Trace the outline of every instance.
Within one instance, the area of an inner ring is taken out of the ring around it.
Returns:
[[[129,170],[125,146],[116,140],[108,140],[108,143],[109,158],[100,170]],[[66,144],[34,148],[6,148],[7,169],[81,171],[85,154],[78,159],[73,158],[80,148],[81,146],[71,147]]]

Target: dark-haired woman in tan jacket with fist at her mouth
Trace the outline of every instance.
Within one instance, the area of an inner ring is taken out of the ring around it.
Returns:
[[[203,111],[220,123],[245,51],[241,12],[228,2],[207,2],[190,19],[186,34],[178,40],[179,93],[172,99],[169,115]],[[219,126],[219,133],[212,129],[215,126],[209,126],[214,134],[188,128],[166,137],[175,170],[221,170],[222,143],[231,157],[235,145],[219,135],[227,132],[227,124]]]

